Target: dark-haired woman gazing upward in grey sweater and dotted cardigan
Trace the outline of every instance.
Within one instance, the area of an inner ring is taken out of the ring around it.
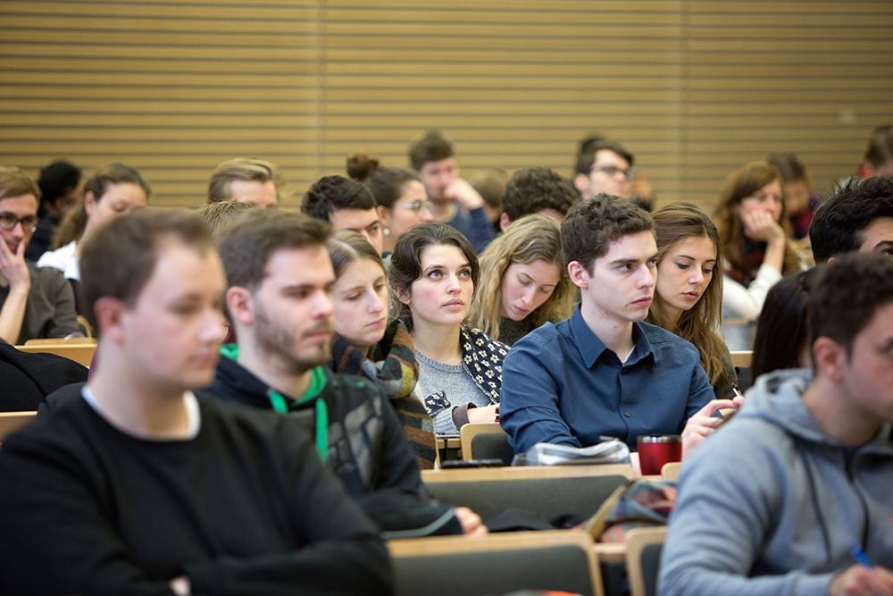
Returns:
[[[419,386],[438,435],[497,419],[508,346],[463,324],[480,267],[471,243],[444,223],[420,223],[396,241],[389,277],[419,363]]]

